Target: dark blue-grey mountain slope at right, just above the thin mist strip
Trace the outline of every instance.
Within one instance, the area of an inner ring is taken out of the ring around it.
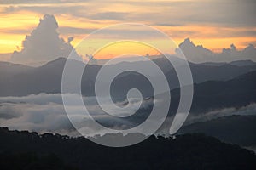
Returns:
[[[179,89],[171,91],[172,105],[179,102]],[[203,114],[228,107],[239,108],[256,102],[256,71],[229,81],[207,81],[195,84],[190,112]],[[171,111],[175,111],[175,107]]]

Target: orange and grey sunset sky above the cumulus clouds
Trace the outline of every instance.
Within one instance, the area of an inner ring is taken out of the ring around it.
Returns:
[[[129,22],[154,26],[177,44],[189,37],[220,52],[231,43],[256,45],[255,11],[254,0],[0,0],[0,60],[23,48],[44,14],[55,16],[57,31],[73,46],[92,31]]]

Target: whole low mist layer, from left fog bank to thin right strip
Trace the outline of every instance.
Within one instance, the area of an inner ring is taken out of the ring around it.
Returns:
[[[68,94],[75,97],[77,94]],[[137,102],[137,99],[133,100]],[[126,101],[125,101],[126,102]],[[123,105],[120,102],[117,105]],[[119,117],[108,116],[102,111],[97,104],[95,97],[84,97],[84,103],[90,116],[96,122],[101,122],[105,127],[112,129],[126,129],[137,126],[150,111],[153,100],[143,101],[141,110],[131,119],[122,119]],[[106,102],[105,105],[110,105]],[[156,102],[157,105],[157,102]],[[76,116],[78,120],[83,120],[83,129],[86,129],[86,135],[94,136],[96,134],[103,135],[108,133],[106,129],[97,129],[92,127],[89,119],[83,114],[83,107],[80,105],[70,105],[73,109],[71,116]],[[130,110],[133,111],[132,105]],[[125,111],[120,114],[125,114]],[[256,104],[247,105],[241,108],[224,108],[222,110],[210,111],[203,115],[193,116],[190,114],[186,124],[193,122],[204,122],[221,116],[231,115],[256,115]],[[168,135],[173,117],[167,117],[166,122],[157,132],[158,134]],[[155,123],[152,120],[152,123]],[[38,133],[61,133],[71,136],[79,136],[80,134],[69,121],[64,106],[62,105],[61,94],[32,94],[23,97],[0,97],[0,125],[1,127],[9,127],[12,130],[29,130]],[[140,129],[142,130],[142,129]],[[143,130],[142,130],[143,132]]]

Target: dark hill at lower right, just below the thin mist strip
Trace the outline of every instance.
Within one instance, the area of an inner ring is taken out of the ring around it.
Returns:
[[[224,116],[207,122],[195,122],[178,133],[205,133],[224,142],[256,146],[256,116]]]

